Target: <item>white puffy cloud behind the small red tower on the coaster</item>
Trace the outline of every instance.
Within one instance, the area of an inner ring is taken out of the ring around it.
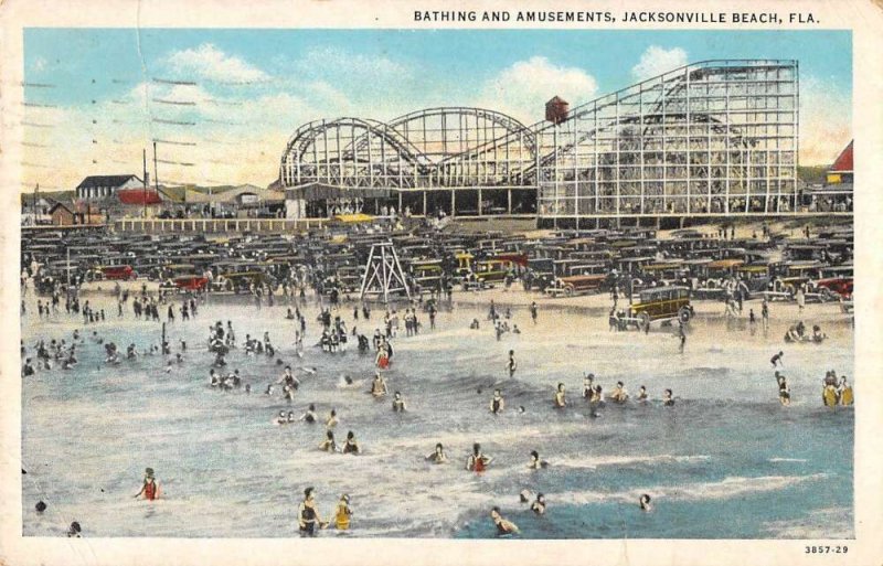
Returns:
[[[503,68],[480,90],[480,105],[508,113],[525,125],[541,120],[545,103],[560,96],[571,107],[592,99],[598,89],[595,77],[579,67],[557,66],[534,56]]]

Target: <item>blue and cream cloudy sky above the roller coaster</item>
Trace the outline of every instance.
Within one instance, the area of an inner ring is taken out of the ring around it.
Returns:
[[[799,62],[801,164],[851,139],[848,31],[26,29],[22,190],[140,177],[152,140],[160,182],[266,185],[311,120],[478,106],[529,125],[552,96],[710,58]]]

